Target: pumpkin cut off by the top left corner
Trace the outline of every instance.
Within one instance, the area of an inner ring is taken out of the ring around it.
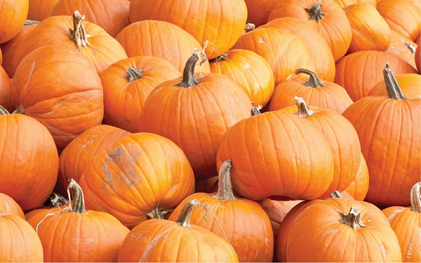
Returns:
[[[1,0],[0,1],[0,44],[14,38],[20,30],[28,15],[28,0]]]

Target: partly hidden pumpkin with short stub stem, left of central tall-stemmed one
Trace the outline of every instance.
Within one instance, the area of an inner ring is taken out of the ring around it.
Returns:
[[[103,122],[138,132],[142,108],[154,87],[180,76],[173,64],[159,57],[130,57],[110,65],[100,73],[104,90]]]

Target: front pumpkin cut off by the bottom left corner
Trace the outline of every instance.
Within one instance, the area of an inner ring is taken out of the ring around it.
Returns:
[[[18,215],[0,212],[0,262],[44,262],[35,230]]]

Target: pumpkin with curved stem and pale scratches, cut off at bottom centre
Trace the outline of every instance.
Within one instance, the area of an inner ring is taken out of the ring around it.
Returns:
[[[192,212],[201,209],[200,206],[193,199],[185,204],[175,222],[152,219],[131,229],[121,245],[118,261],[239,262],[234,248],[225,239],[190,225]]]

